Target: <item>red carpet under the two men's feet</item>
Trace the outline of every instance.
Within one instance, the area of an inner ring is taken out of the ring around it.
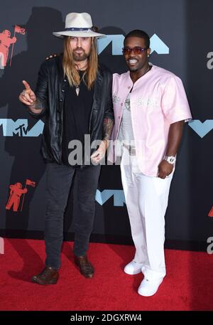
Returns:
[[[64,243],[58,284],[30,282],[45,260],[42,240],[5,239],[0,255],[0,310],[213,310],[213,256],[204,252],[166,250],[168,275],[153,297],[137,289],[143,275],[122,269],[133,247],[90,244],[93,279],[84,279],[73,264],[72,243]]]

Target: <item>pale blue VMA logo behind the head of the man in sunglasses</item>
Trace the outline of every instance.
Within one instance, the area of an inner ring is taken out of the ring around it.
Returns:
[[[168,54],[169,48],[165,43],[158,37],[158,35],[153,34],[150,39],[151,42],[151,53],[156,52],[158,54]],[[106,37],[98,39],[98,53],[102,53],[107,46],[111,43],[111,54],[112,55],[122,55],[122,48],[124,46],[124,35],[107,35]]]

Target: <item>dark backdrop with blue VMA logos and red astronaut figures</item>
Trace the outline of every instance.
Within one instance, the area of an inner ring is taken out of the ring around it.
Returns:
[[[193,120],[185,125],[166,213],[165,247],[207,250],[213,236],[211,0],[11,1],[0,13],[0,235],[43,238],[45,164],[40,157],[43,119],[20,102],[22,80],[35,87],[40,63],[62,52],[52,35],[71,11],[89,12],[106,38],[99,60],[114,73],[126,71],[124,36],[139,28],[151,36],[151,63],[180,76]],[[72,238],[75,186],[65,211],[65,239]],[[92,240],[131,243],[119,166],[102,166]]]

